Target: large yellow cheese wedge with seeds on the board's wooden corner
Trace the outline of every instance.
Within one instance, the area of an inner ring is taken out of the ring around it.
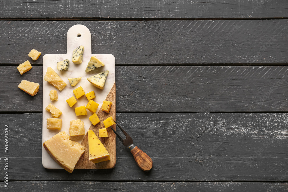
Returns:
[[[92,130],[88,130],[89,160],[93,163],[109,161],[110,155]]]

